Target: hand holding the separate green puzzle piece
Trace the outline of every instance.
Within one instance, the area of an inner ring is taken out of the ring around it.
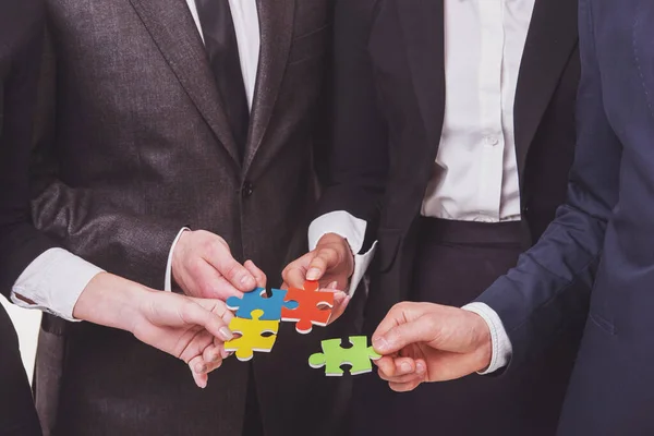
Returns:
[[[379,377],[392,390],[409,391],[424,382],[460,378],[491,365],[491,331],[484,319],[462,308],[400,303],[373,335]]]

